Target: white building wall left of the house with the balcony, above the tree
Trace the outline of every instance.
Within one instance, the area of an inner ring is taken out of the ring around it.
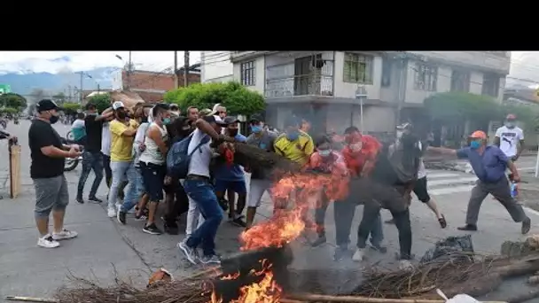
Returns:
[[[201,82],[224,82],[234,74],[230,51],[201,51],[200,61]]]

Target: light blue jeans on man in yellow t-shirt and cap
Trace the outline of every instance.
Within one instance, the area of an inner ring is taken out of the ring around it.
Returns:
[[[127,176],[129,188],[125,195],[123,203],[127,206],[134,206],[137,203],[137,170],[133,161],[111,161],[111,170],[113,172],[113,182],[108,192],[108,207],[113,208],[118,198],[120,184]],[[128,209],[129,210],[129,209]]]

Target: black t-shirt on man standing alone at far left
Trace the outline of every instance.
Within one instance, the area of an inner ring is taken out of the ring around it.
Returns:
[[[64,174],[64,158],[52,158],[43,155],[41,148],[54,146],[62,148],[59,134],[52,128],[51,123],[43,120],[32,120],[28,130],[28,142],[30,145],[30,176],[34,179],[53,178]]]

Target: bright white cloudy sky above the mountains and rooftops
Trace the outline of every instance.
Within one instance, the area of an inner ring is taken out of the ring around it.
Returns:
[[[131,59],[137,69],[169,71],[174,66],[174,51],[132,51]],[[123,67],[128,60],[129,51],[0,51],[0,74],[74,73],[105,66]],[[191,64],[199,60],[200,51],[191,51]],[[184,51],[178,51],[178,66],[183,65]],[[539,84],[539,51],[512,51],[510,78],[508,82],[527,86]]]

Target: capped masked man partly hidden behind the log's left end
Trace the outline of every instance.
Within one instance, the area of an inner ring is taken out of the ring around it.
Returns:
[[[246,144],[258,146],[262,150],[274,152],[273,144],[277,134],[264,129],[264,119],[261,114],[254,114],[249,120],[251,135],[247,137]],[[246,172],[251,173],[249,193],[247,196],[246,229],[253,225],[256,208],[260,206],[262,195],[271,187],[269,172],[263,167],[245,167]]]

